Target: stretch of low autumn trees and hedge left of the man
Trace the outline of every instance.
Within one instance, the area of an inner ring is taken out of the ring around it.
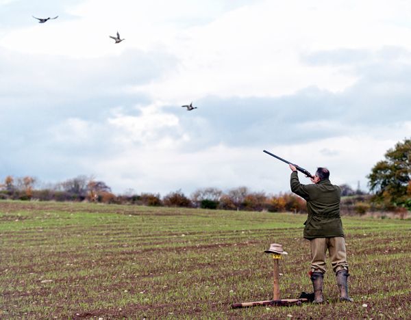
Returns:
[[[181,190],[177,190],[162,197],[160,194],[134,194],[132,191],[115,195],[103,181],[96,181],[87,176],[77,176],[43,189],[35,189],[35,183],[36,179],[31,176],[23,178],[7,176],[4,183],[0,185],[0,199],[88,201],[203,209],[306,212],[305,202],[299,196],[290,193],[271,196],[263,191],[250,191],[247,187],[236,187],[227,192],[208,187],[197,189],[190,196],[186,196]]]

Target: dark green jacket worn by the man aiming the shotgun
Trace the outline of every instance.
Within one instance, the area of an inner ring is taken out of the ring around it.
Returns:
[[[307,201],[308,218],[304,238],[344,237],[340,218],[341,189],[332,185],[329,179],[301,185],[297,171],[291,173],[291,191]]]

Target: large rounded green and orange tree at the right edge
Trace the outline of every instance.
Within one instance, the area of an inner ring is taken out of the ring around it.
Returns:
[[[367,176],[373,201],[406,206],[411,211],[411,139],[398,142],[384,156],[386,159],[377,162]]]

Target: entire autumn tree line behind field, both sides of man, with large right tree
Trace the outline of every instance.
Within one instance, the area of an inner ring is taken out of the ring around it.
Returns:
[[[372,168],[368,194],[349,185],[340,185],[343,199],[342,213],[364,214],[367,211],[411,211],[411,139],[398,142],[389,149],[385,158]],[[137,204],[146,206],[180,206],[203,209],[270,211],[305,213],[306,202],[291,193],[278,195],[236,187],[227,192],[208,187],[197,189],[190,196],[181,190],[164,197],[160,194],[132,191],[115,195],[103,181],[93,177],[77,176],[62,183],[35,189],[36,178],[5,177],[0,183],[0,199],[40,201],[89,201],[108,204]]]

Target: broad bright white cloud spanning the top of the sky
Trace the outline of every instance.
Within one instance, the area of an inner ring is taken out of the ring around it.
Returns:
[[[34,23],[3,37],[10,50],[69,57],[119,56],[126,49],[179,59],[162,81],[139,84],[153,99],[281,96],[308,86],[340,92],[360,75],[338,66],[308,66],[301,55],[332,49],[411,49],[403,1],[249,1],[229,8],[212,1],[88,0],[66,9],[75,18]],[[158,10],[158,8],[162,10]],[[364,14],[366,12],[366,14]],[[126,38],[108,38],[120,31]]]

